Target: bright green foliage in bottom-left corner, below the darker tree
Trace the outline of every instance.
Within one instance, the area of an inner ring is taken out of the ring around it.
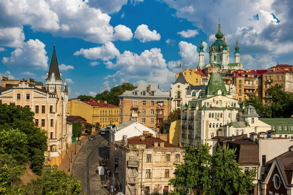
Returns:
[[[11,155],[0,155],[0,195],[17,195],[24,165]]]

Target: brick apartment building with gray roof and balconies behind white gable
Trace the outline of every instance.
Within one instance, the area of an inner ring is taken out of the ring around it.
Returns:
[[[124,92],[119,98],[120,123],[134,120],[158,130],[171,112],[170,92],[161,91],[158,83],[140,82],[136,89]]]

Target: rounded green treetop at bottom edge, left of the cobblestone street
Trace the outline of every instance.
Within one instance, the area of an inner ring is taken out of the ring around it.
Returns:
[[[46,167],[41,177],[21,189],[23,195],[80,195],[81,192],[81,181],[56,166]]]

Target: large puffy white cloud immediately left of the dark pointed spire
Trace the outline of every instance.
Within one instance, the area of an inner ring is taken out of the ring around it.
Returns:
[[[11,57],[3,57],[2,63],[10,67],[30,67],[35,69],[48,69],[48,57],[45,44],[39,39],[29,39],[23,43],[22,48],[11,52]]]

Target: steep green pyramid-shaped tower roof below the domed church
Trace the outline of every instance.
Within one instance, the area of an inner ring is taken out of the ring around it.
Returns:
[[[211,73],[206,95],[229,95],[220,73]]]

